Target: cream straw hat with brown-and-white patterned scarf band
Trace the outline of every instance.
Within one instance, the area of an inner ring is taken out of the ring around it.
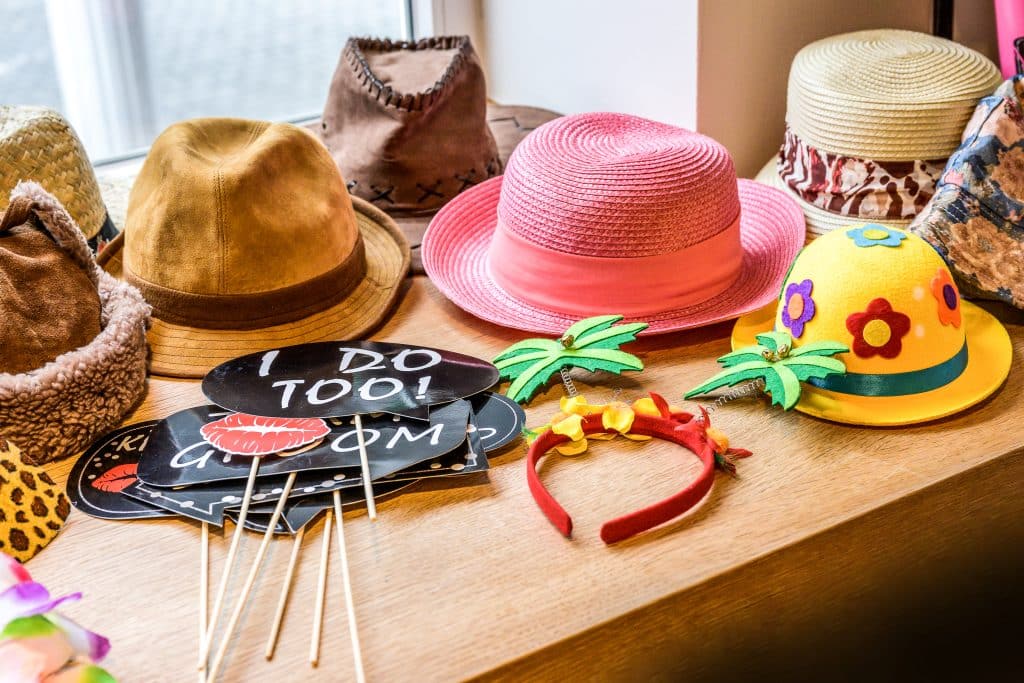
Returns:
[[[978,52],[911,31],[811,43],[790,71],[785,143],[757,179],[797,198],[810,240],[865,220],[906,226],[999,80]]]

